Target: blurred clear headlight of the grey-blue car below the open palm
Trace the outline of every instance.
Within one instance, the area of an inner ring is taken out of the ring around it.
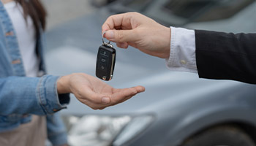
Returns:
[[[72,146],[122,145],[152,121],[149,115],[132,117],[85,115],[82,118],[68,116],[64,121],[69,129],[68,141]]]

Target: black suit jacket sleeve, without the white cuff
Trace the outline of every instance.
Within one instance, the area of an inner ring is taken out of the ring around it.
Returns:
[[[199,77],[256,84],[256,34],[195,31]]]

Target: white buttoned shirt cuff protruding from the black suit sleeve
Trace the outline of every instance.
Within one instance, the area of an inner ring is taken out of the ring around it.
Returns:
[[[165,60],[171,71],[195,72],[195,31],[186,28],[171,28],[170,58]]]

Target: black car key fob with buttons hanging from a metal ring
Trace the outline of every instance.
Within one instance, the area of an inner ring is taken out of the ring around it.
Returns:
[[[110,42],[104,42],[102,35],[103,44],[99,46],[96,64],[96,76],[102,80],[111,80],[113,78],[113,71],[116,63],[116,50]]]

